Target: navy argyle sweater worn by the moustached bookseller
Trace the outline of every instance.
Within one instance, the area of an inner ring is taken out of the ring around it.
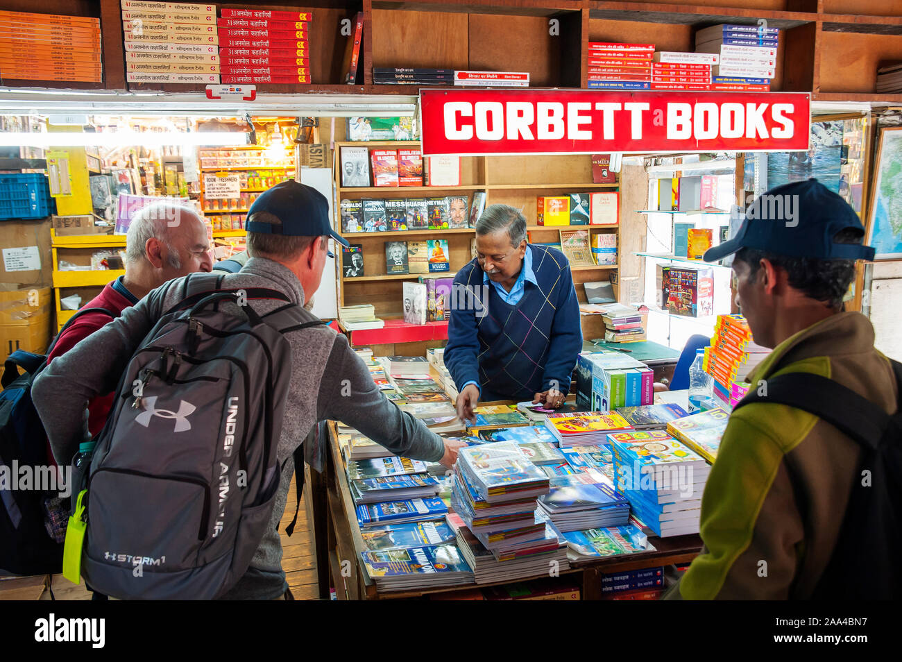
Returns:
[[[538,287],[524,282],[514,306],[498,296],[492,283],[484,288],[483,269],[475,259],[454,280],[445,365],[458,389],[477,382],[483,401],[532,400],[553,382],[566,393],[583,348],[579,304],[564,253],[536,244],[527,250]],[[469,309],[460,309],[461,286],[477,299]]]

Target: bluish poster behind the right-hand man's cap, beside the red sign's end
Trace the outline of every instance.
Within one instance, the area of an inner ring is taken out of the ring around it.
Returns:
[[[842,121],[815,122],[807,150],[768,154],[768,188],[815,177],[833,193],[839,193],[841,167]]]

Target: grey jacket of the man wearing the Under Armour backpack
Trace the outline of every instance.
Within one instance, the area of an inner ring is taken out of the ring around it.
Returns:
[[[35,380],[32,399],[59,464],[69,464],[78,452],[78,444],[87,437],[87,401],[115,391],[144,336],[163,311],[181,299],[182,280],[170,280],[133,308],[126,308],[122,317],[54,359]],[[304,305],[304,291],[297,276],[280,263],[264,258],[252,258],[238,273],[226,275],[222,287],[271,288],[287,295],[291,302]],[[261,315],[283,305],[284,302],[275,299],[253,302],[253,308]],[[253,556],[251,567],[226,594],[227,599],[272,600],[288,588],[281,569],[278,531],[294,468],[286,460],[319,420],[340,420],[398,455],[429,462],[437,462],[444,455],[441,437],[382,395],[345,336],[327,326],[290,332],[286,336],[291,345],[291,382],[277,454],[285,469],[270,527]],[[350,391],[345,389],[345,380],[350,384]]]

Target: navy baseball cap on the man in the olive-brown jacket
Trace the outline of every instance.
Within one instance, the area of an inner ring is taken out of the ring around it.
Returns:
[[[817,179],[771,188],[746,210],[736,236],[704,253],[716,262],[741,248],[816,260],[873,260],[874,249],[862,244],[834,244],[847,228],[864,234],[855,210]]]

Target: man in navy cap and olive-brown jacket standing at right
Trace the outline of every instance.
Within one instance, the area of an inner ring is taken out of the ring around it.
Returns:
[[[843,311],[855,261],[874,256],[863,236],[851,207],[809,179],[756,199],[737,235],[704,254],[706,262],[734,254],[736,303],[755,342],[773,348],[748,377],[750,393],[766,396],[775,375],[805,372],[896,411],[897,382],[874,348],[873,326]],[[704,488],[704,549],[667,598],[823,592],[860,455],[851,437],[802,409],[774,401],[738,407]]]

